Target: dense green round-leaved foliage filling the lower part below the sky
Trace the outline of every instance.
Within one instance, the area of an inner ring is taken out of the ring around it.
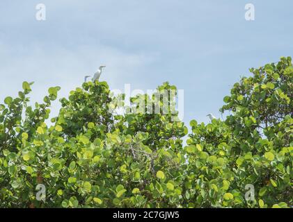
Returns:
[[[292,60],[251,72],[225,96],[225,121],[191,121],[187,146],[187,127],[171,112],[176,94],[168,108],[158,95],[176,90],[168,83],[132,98],[136,112],[125,114],[113,112],[118,97],[105,82],[84,83],[48,126],[60,87],[33,108],[33,83],[24,82],[0,104],[0,207],[292,206]],[[145,112],[156,105],[159,113]]]

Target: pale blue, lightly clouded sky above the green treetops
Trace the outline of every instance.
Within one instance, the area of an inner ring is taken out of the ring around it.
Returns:
[[[46,21],[35,19],[45,3]],[[255,21],[244,19],[246,3]],[[32,101],[107,67],[111,89],[184,89],[184,121],[220,116],[223,97],[248,69],[293,56],[292,0],[1,0],[0,101],[35,81]],[[52,114],[57,114],[58,102]],[[57,107],[57,108],[56,108]]]

